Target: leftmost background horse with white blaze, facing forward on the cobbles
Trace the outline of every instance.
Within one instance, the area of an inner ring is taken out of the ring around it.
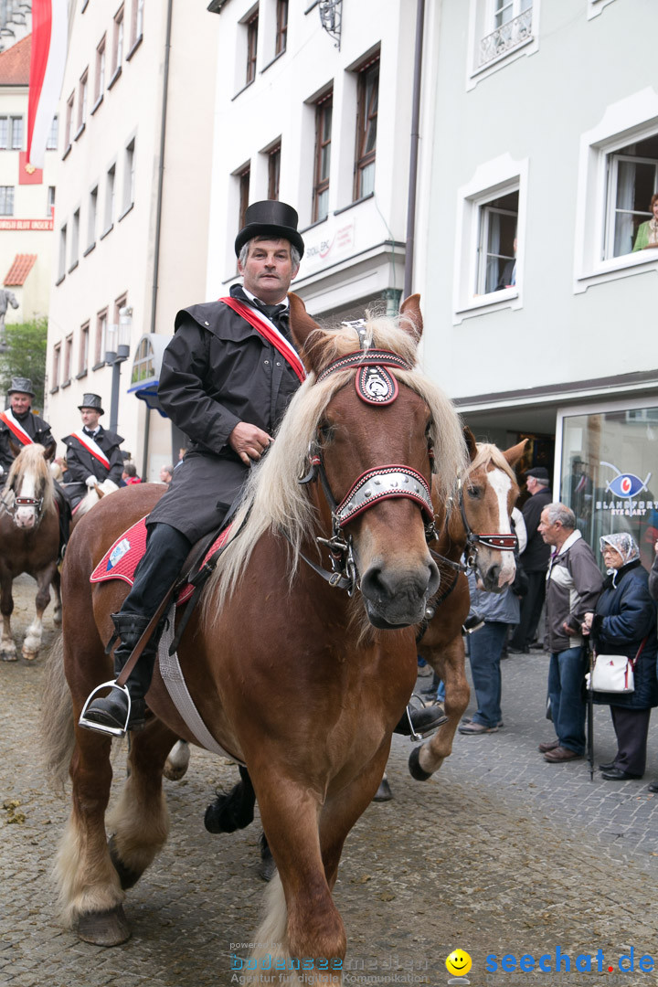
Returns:
[[[14,610],[12,582],[22,572],[37,579],[36,616],[23,643],[23,656],[36,657],[43,634],[43,612],[50,602],[50,585],[55,592],[53,620],[61,624],[62,604],[59,592],[59,514],[54,502],[53,482],[48,462],[55,453],[55,443],[47,449],[33,444],[17,447],[5,488],[0,494],[0,612],[2,640],[0,659],[16,661],[11,616]]]

